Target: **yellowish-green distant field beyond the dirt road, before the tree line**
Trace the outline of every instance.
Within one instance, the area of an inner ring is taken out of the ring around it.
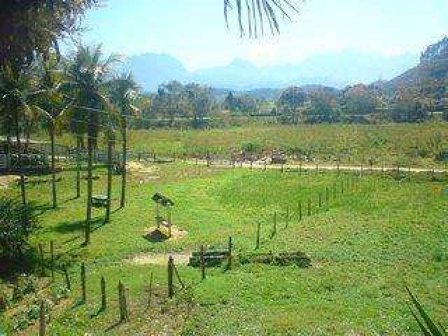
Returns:
[[[74,139],[64,135],[57,143],[73,146]],[[448,153],[448,127],[446,123],[246,125],[213,130],[130,131],[128,139],[130,151],[170,156],[174,152],[178,156],[207,152],[228,155],[249,144],[256,151],[279,148],[319,162],[444,167],[437,155]]]

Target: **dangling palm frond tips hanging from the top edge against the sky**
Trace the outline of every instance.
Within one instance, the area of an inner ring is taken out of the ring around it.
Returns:
[[[297,0],[223,0],[224,17],[229,27],[228,10],[237,9],[240,36],[258,38],[265,35],[265,25],[272,35],[280,34],[279,16],[292,21],[298,13]],[[302,0],[300,0],[302,2]],[[248,29],[246,30],[245,27]]]

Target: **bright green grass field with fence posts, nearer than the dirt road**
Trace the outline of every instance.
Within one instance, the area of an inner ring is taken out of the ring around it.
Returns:
[[[55,241],[57,265],[68,263],[73,282],[69,298],[52,313],[48,335],[420,335],[406,305],[405,283],[432,316],[444,321],[448,294],[445,176],[402,174],[397,179],[367,174],[361,178],[336,172],[282,174],[181,163],[153,166],[151,172],[128,176],[127,206],[112,214],[111,223],[104,225],[104,211],[94,210],[92,241],[87,247],[81,246],[85,190],[83,197],[72,200],[74,173],[62,174],[57,210],[48,208],[49,184],[29,186],[29,199],[43,212],[41,229],[31,244],[43,243],[48,251],[49,241]],[[95,193],[104,193],[105,171],[95,174],[100,176],[94,182]],[[153,179],[146,179],[148,175]],[[116,209],[118,177],[113,186]],[[18,191],[11,187],[2,193]],[[187,232],[185,237],[165,242],[145,239],[146,229],[154,226],[151,195],[155,191],[176,203],[173,221]],[[311,216],[307,215],[309,199]],[[285,228],[287,208],[290,219]],[[272,237],[274,212],[277,228]],[[255,252],[258,221],[258,252],[302,251],[311,258],[311,266],[245,262],[245,256]],[[175,298],[169,300],[168,253],[174,253],[176,262],[176,256],[197,251],[200,244],[225,247],[229,236],[235,244],[232,269],[208,268],[207,279],[201,281],[200,269],[179,259],[176,267],[188,289],[181,290],[177,283]],[[132,261],[136,256],[146,260],[155,255],[162,259]],[[85,304],[79,302],[80,262],[87,265]],[[151,272],[154,297],[148,307]],[[107,282],[106,311],[99,311],[101,276]],[[119,280],[129,288],[130,323],[117,323]],[[52,287],[63,283],[58,272]],[[18,309],[20,305],[3,314],[3,328],[8,332]],[[31,326],[17,335],[37,335],[37,328]]]

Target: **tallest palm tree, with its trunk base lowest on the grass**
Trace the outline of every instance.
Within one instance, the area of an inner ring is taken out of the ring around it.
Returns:
[[[113,64],[118,62],[116,55],[104,58],[101,45],[89,48],[78,47],[71,57],[66,71],[71,88],[73,106],[87,115],[87,206],[85,221],[85,244],[90,242],[90,221],[92,219],[92,171],[93,150],[97,145],[97,137],[101,122],[111,112],[111,106],[106,98],[107,88],[112,78]]]

